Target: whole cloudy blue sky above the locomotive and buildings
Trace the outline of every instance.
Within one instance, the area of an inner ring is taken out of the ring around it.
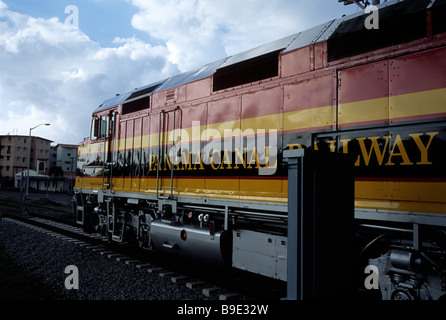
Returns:
[[[78,144],[106,99],[355,13],[337,0],[0,0],[0,135]]]

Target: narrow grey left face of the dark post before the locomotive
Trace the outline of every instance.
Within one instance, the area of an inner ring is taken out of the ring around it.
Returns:
[[[287,299],[303,300],[303,149],[285,150],[288,159]]]

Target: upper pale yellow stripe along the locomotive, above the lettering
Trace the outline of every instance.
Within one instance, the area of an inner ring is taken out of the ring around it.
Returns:
[[[404,117],[423,116],[446,113],[446,88],[416,92],[392,97],[371,99],[344,103],[339,105],[338,123],[357,124],[361,122],[385,121]],[[201,140],[206,129],[216,130],[220,138],[225,136],[225,129],[240,129],[242,134],[257,133],[259,129],[276,129],[280,134],[283,131],[314,130],[314,128],[335,126],[336,110],[334,106],[297,110],[292,112],[260,116],[242,120],[231,120],[215,124],[202,124],[199,127],[182,128],[176,130],[176,143]],[[212,133],[208,131],[208,133]],[[203,136],[204,137],[204,136]],[[216,137],[210,137],[215,139]],[[217,137],[218,138],[218,137]],[[165,143],[171,144],[172,132],[164,133]],[[92,143],[80,149],[80,154],[101,153],[103,143]],[[114,149],[124,151],[132,148],[147,148],[158,145],[158,133],[151,133],[142,137],[132,137],[118,140]]]

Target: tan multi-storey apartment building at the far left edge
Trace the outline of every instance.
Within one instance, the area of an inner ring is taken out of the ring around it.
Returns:
[[[50,167],[51,140],[31,137],[30,169],[47,174]],[[12,181],[28,168],[29,136],[0,135],[0,179]]]

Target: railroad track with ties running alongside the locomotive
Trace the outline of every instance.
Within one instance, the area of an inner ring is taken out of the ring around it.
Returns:
[[[143,269],[160,278],[170,278],[184,290],[201,290],[203,299],[256,300],[280,299],[283,287],[269,279],[231,270],[213,270],[162,254],[148,254],[135,246],[110,243],[105,237],[88,234],[82,228],[48,217],[4,214],[4,219],[46,233],[60,241],[70,241],[97,254],[134,268]],[[218,275],[216,278],[215,275]],[[259,282],[260,280],[260,282]],[[262,283],[266,281],[266,283]],[[281,284],[281,283],[280,283]]]

